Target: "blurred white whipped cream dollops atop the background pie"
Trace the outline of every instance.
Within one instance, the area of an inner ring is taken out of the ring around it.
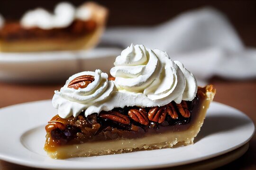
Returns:
[[[21,25],[24,27],[39,27],[42,29],[63,28],[70,26],[74,19],[88,20],[91,10],[85,6],[75,8],[67,2],[60,2],[56,5],[54,13],[43,8],[36,8],[27,11],[21,18]]]

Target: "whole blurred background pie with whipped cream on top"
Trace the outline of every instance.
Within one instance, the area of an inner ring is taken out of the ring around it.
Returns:
[[[59,51],[90,49],[104,30],[107,9],[86,2],[78,8],[56,5],[54,13],[43,8],[27,11],[18,22],[0,17],[0,51]]]

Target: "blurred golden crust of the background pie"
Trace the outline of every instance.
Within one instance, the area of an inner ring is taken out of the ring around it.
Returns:
[[[0,51],[2,52],[31,52],[31,51],[69,51],[69,50],[87,50],[93,48],[99,41],[104,31],[108,11],[106,8],[93,3],[87,2],[82,8],[91,9],[90,20],[96,23],[93,31],[83,34],[82,36],[73,36],[57,38],[33,38],[33,39],[16,39],[8,41],[0,36]],[[47,30],[46,30],[47,31]]]

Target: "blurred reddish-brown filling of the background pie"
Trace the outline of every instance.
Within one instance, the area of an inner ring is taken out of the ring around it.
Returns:
[[[6,41],[55,38],[72,39],[93,32],[96,29],[96,26],[97,23],[95,21],[82,21],[76,19],[68,27],[45,30],[38,27],[24,28],[18,22],[7,22],[0,29],[0,39]]]

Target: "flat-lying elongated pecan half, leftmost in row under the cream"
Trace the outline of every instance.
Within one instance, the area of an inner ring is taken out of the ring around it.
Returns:
[[[103,119],[110,119],[125,125],[128,125],[130,123],[130,119],[127,116],[117,111],[101,111],[99,117]]]

